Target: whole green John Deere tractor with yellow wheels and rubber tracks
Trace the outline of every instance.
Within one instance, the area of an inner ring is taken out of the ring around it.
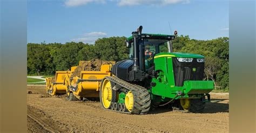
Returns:
[[[173,53],[177,36],[142,33],[142,26],[127,38],[129,59],[112,67],[113,76],[100,85],[104,109],[129,114],[146,114],[151,108],[171,105],[175,109],[200,113],[205,97],[214,88],[204,78],[204,56]]]

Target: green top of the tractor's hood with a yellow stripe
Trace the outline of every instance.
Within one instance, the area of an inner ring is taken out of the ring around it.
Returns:
[[[203,55],[190,53],[159,53],[154,56],[154,58],[158,57],[204,58]]]

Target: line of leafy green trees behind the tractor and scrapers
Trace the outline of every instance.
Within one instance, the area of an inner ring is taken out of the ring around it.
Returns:
[[[129,56],[125,37],[102,38],[94,45],[83,42],[28,43],[28,75],[54,75],[55,71],[68,70],[80,60],[99,58],[121,61]],[[229,38],[213,40],[190,39],[180,35],[173,40],[173,51],[205,56],[205,79],[214,80],[221,89],[228,88]]]

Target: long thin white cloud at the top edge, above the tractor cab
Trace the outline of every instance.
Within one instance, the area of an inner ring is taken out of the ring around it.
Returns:
[[[189,3],[189,0],[120,0],[118,5],[168,5],[176,3]]]

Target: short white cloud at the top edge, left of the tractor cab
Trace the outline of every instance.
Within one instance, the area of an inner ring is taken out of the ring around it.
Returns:
[[[65,5],[69,7],[74,7],[74,6],[86,5],[92,2],[105,3],[105,0],[66,0]]]

